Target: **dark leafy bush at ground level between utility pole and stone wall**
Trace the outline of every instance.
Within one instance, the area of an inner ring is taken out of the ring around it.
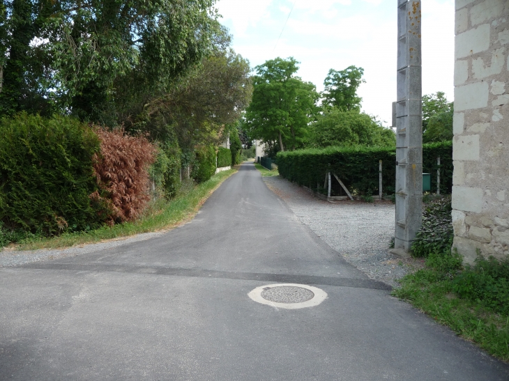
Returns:
[[[424,205],[423,226],[417,232],[411,247],[413,256],[450,253],[454,238],[451,210],[450,196]]]

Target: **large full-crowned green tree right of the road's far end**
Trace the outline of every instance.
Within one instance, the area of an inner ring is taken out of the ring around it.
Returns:
[[[298,62],[293,57],[266,61],[255,70],[243,128],[252,139],[263,139],[281,151],[300,148],[317,114],[319,95],[314,84],[296,77]]]

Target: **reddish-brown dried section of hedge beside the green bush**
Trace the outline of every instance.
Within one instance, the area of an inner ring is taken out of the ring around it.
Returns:
[[[123,129],[95,128],[100,154],[93,157],[93,169],[102,190],[91,194],[107,204],[108,223],[135,219],[149,201],[149,166],[155,160],[155,147],[144,137],[126,135]]]

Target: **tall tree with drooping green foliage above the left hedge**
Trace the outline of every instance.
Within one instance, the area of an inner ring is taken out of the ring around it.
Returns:
[[[3,0],[2,111],[39,112],[38,95],[83,120],[115,124],[119,107],[167,88],[208,54],[214,2]]]

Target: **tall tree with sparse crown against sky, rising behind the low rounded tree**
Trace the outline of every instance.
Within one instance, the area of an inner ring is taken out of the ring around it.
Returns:
[[[363,99],[357,95],[357,89],[360,84],[365,83],[363,74],[364,69],[354,65],[340,71],[329,70],[324,81],[322,104],[343,111],[360,110],[360,102]]]

